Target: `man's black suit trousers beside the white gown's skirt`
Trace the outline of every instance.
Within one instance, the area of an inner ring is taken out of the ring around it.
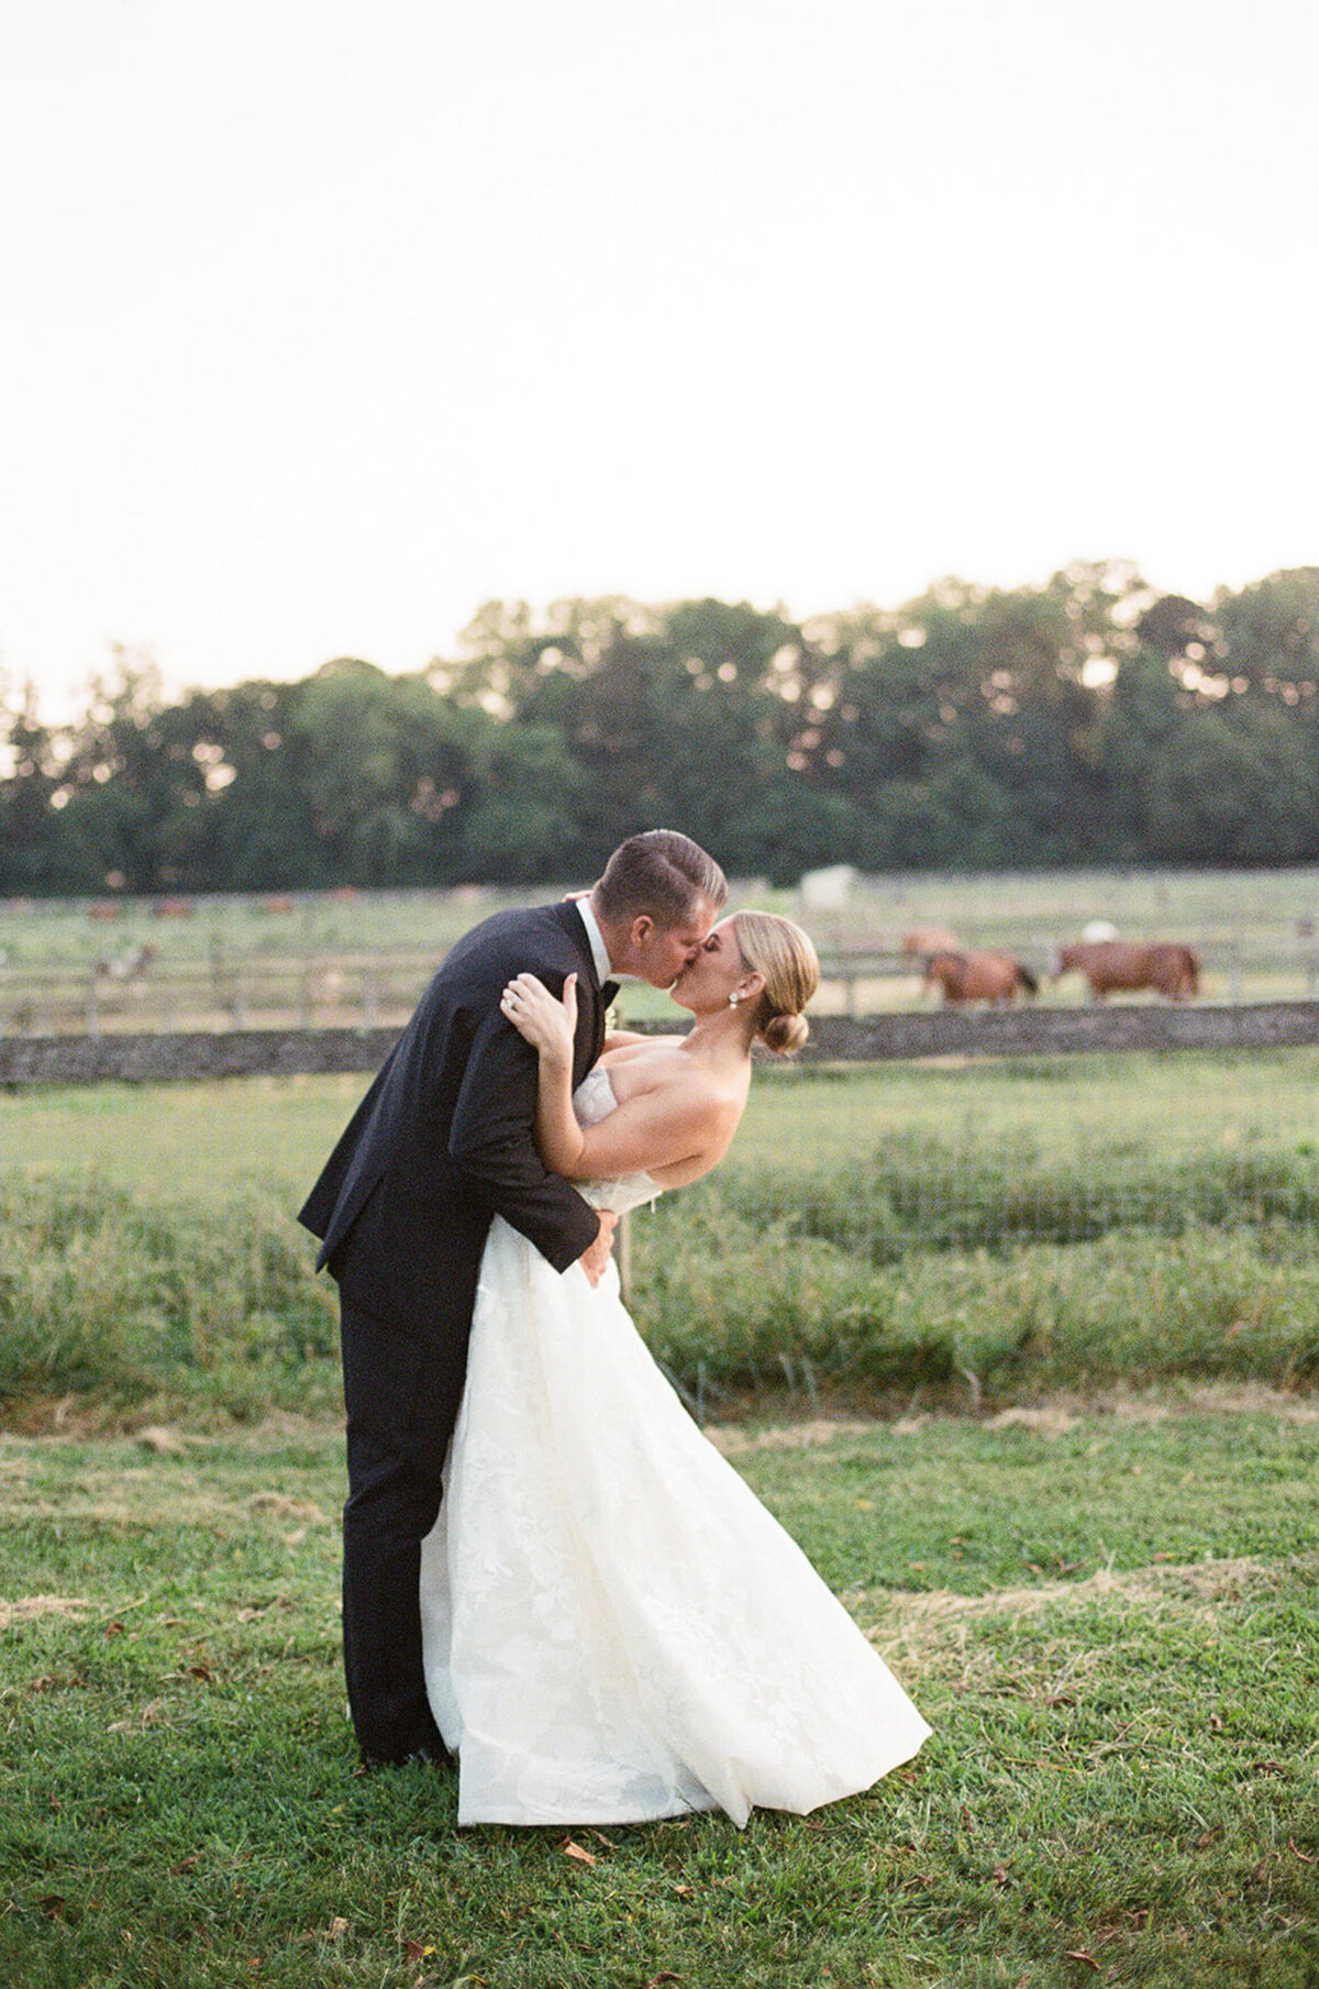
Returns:
[[[344,1673],[362,1752],[442,1752],[422,1673],[422,1541],[440,1512],[444,1456],[462,1402],[466,1341],[442,1345],[360,1311],[340,1293],[348,1504]]]

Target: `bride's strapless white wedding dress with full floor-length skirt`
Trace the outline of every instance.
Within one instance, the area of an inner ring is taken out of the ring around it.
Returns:
[[[609,1072],[575,1096],[613,1110]],[[649,1175],[589,1183],[597,1207]],[[495,1217],[440,1520],[426,1685],[460,1824],[625,1824],[869,1788],[929,1726],[647,1353],[611,1263],[591,1289]]]

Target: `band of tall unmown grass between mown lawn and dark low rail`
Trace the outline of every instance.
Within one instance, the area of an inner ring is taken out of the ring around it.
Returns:
[[[698,1412],[770,1390],[1309,1388],[1317,1066],[1186,1054],[760,1082],[724,1168],[633,1219],[633,1311]],[[231,1418],[334,1404],[334,1291],[292,1211],[358,1090],[0,1100],[28,1154],[0,1177],[8,1416],[66,1396]]]

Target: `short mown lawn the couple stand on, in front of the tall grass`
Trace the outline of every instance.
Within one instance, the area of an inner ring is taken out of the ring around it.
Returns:
[[[935,1734],[812,1818],[468,1830],[354,1776],[334,1428],[0,1438],[22,1989],[1313,1989],[1319,1420],[732,1434]]]

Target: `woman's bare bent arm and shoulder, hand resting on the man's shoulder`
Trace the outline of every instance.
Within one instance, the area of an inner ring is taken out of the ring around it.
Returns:
[[[563,1000],[535,979],[517,975],[503,993],[503,1012],[539,1056],[535,1140],[541,1160],[569,1181],[655,1174],[676,1185],[692,1181],[722,1156],[740,1106],[700,1082],[676,1060],[595,1126],[573,1114],[575,977]]]

